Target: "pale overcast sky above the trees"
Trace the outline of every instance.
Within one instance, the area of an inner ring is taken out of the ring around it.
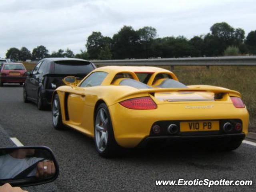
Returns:
[[[158,36],[192,38],[216,22],[256,30],[255,0],[0,0],[0,57],[10,47],[31,52],[85,50],[93,31],[112,37],[124,25],[156,28]]]

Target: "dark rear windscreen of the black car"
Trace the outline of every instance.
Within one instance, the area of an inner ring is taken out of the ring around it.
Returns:
[[[54,62],[55,74],[88,74],[94,67],[90,62],[86,61],[56,61]]]

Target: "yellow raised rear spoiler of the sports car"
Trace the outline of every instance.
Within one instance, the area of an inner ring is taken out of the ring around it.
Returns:
[[[229,94],[230,96],[239,97],[241,98],[241,94],[238,91],[230,90],[226,88],[154,88],[154,89],[142,89],[136,92],[132,92],[129,94],[125,94],[120,98],[120,100],[123,100],[124,98],[135,96],[138,94],[151,94],[154,96],[155,93],[160,92],[213,92],[216,94]]]

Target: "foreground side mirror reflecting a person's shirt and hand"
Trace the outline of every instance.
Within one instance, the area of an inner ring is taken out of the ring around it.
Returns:
[[[45,146],[0,148],[0,186],[32,186],[54,181],[59,174],[58,163]]]

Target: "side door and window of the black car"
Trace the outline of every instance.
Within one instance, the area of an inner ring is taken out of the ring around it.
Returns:
[[[42,64],[42,61],[40,61],[35,68],[33,69],[32,73],[30,76],[28,76],[27,80],[26,80],[26,91],[27,91],[27,95],[30,98],[36,99],[37,95],[35,95],[36,93],[36,74],[38,73],[38,70],[40,68],[40,65]]]

